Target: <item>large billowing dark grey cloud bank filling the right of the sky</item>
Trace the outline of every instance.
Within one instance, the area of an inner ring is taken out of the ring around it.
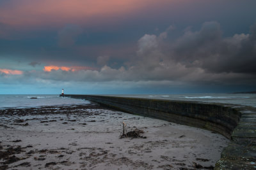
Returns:
[[[168,34],[172,30],[159,36],[145,34],[138,40],[137,55],[129,66],[84,71],[79,74],[81,80],[255,83],[255,26],[250,34],[226,38],[218,22],[205,22],[200,31],[186,31],[172,42],[166,39]]]

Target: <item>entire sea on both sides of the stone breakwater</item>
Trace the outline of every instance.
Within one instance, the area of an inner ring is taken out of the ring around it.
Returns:
[[[200,101],[204,103],[226,103],[256,107],[256,94],[112,94],[107,96],[140,97],[175,101]],[[32,97],[36,97],[36,99],[31,99]],[[90,101],[84,99],[72,99],[70,97],[60,97],[57,94],[0,95],[1,110],[8,108],[35,108],[40,106],[72,106],[76,104],[90,104]]]

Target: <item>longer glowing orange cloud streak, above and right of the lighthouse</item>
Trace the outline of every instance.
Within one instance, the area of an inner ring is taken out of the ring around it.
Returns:
[[[72,66],[72,67],[66,67],[66,66],[44,66],[44,71],[50,72],[52,70],[62,70],[62,71],[80,71],[80,70],[96,70],[96,68],[93,67],[84,67],[84,66]]]

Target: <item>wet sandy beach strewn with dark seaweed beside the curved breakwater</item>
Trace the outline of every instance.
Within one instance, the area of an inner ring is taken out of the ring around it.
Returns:
[[[122,138],[138,128],[147,138]],[[0,110],[0,169],[212,169],[229,140],[98,105]]]

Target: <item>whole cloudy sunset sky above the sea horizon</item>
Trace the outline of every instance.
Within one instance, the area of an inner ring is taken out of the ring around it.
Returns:
[[[255,0],[0,0],[0,94],[256,90]]]

